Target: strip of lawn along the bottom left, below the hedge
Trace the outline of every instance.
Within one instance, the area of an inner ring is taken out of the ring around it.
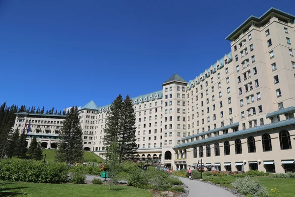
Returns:
[[[45,184],[0,181],[0,197],[151,197],[147,190],[128,186]]]

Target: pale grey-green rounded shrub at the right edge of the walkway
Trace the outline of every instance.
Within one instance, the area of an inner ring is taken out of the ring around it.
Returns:
[[[263,187],[257,179],[250,178],[249,176],[237,178],[232,185],[242,195],[268,197],[267,189]]]

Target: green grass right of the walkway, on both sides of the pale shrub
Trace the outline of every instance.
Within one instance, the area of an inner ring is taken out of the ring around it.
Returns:
[[[273,177],[255,177],[262,185],[267,188],[270,197],[295,197],[295,178],[273,178]],[[223,185],[225,187],[232,188],[229,182],[234,182],[236,177],[233,176],[209,176],[209,179],[205,178],[204,181],[210,181],[215,184]],[[277,189],[279,193],[271,193],[271,189]]]

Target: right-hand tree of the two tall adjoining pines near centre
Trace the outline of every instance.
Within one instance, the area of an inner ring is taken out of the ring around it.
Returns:
[[[127,95],[123,102],[123,110],[121,111],[121,128],[122,131],[119,137],[120,154],[119,160],[130,159],[137,153],[136,144],[136,127],[135,127],[135,114],[132,107],[132,100]]]

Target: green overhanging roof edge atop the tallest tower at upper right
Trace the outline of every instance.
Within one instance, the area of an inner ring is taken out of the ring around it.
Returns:
[[[295,16],[292,15],[292,14],[289,14],[287,12],[284,12],[284,11],[281,11],[279,9],[276,9],[274,7],[271,7],[269,10],[267,10],[261,17],[256,17],[256,16],[253,16],[251,15],[247,20],[245,20],[240,26],[238,26],[236,28],[236,30],[234,30],[234,32],[232,32],[231,34],[229,34],[225,39],[227,40],[230,40],[231,41],[231,38],[236,34],[238,33],[240,30],[243,29],[243,27],[245,25],[247,25],[250,21],[256,21],[256,22],[261,22],[263,19],[265,19],[270,13],[277,13],[277,14],[280,14],[282,16],[285,16],[287,18],[290,18],[290,19],[293,19],[295,20]]]

